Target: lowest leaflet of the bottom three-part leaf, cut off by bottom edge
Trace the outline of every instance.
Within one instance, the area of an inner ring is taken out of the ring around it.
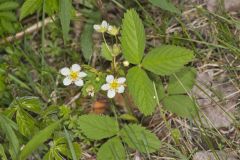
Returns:
[[[98,153],[98,160],[126,160],[126,153],[118,137],[109,139],[104,143]]]

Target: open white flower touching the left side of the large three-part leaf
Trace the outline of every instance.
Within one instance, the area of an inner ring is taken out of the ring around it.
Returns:
[[[123,93],[124,92],[124,82],[126,78],[114,78],[113,75],[108,75],[106,77],[107,83],[102,85],[101,89],[107,92],[108,98],[113,98],[116,93]]]

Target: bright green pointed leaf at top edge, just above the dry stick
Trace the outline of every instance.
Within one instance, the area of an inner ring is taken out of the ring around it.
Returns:
[[[40,9],[42,2],[43,0],[26,0],[20,10],[20,20]]]

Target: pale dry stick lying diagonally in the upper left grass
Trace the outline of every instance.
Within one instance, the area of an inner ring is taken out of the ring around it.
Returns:
[[[13,42],[15,40],[22,39],[25,35],[31,34],[31,33],[35,32],[35,31],[40,30],[42,28],[43,24],[47,25],[49,23],[52,23],[54,20],[55,20],[55,17],[48,17],[44,21],[37,22],[34,25],[28,27],[26,30],[18,32],[14,36],[9,36],[9,37],[6,37],[4,39],[1,39],[0,40],[0,45],[1,44],[5,44],[5,43],[11,43],[11,42]]]

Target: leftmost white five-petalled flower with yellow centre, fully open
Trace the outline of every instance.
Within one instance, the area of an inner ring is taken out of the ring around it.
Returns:
[[[78,64],[73,64],[71,68],[64,67],[60,70],[60,73],[65,76],[63,84],[68,86],[74,83],[77,86],[83,86],[83,77],[86,77],[85,72],[80,72],[81,67]]]

